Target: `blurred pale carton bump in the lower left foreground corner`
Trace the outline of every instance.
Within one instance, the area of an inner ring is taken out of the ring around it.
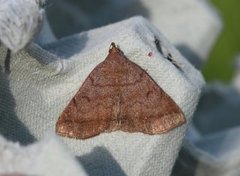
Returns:
[[[0,136],[0,175],[86,176],[74,155],[53,135],[29,146]]]

